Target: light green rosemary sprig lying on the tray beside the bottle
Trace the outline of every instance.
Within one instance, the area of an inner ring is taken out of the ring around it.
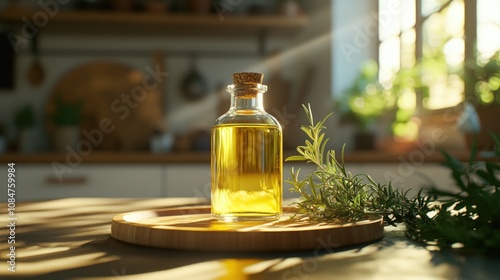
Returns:
[[[409,200],[392,186],[382,186],[366,174],[352,174],[344,165],[344,149],[341,160],[335,157],[335,151],[325,155],[328,138],[325,138],[324,123],[331,115],[315,123],[310,105],[303,106],[309,120],[308,126],[302,126],[307,139],[304,146],[298,146],[298,155],[288,157],[287,161],[307,161],[317,169],[299,179],[300,169],[291,169],[291,191],[298,192],[301,200],[296,202],[298,213],[306,214],[313,220],[334,220],[355,222],[371,215],[385,215],[390,224],[401,222],[401,211],[406,209]],[[396,215],[394,215],[396,213]]]

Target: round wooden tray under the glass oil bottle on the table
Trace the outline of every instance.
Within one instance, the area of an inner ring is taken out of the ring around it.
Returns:
[[[290,220],[284,208],[272,222],[220,222],[210,206],[146,210],[113,217],[111,236],[144,246],[220,252],[321,250],[362,244],[384,235],[382,219],[350,224]]]

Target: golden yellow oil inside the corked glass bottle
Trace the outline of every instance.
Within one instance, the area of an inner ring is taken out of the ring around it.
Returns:
[[[267,124],[212,128],[212,215],[271,220],[282,209],[282,133]]]

